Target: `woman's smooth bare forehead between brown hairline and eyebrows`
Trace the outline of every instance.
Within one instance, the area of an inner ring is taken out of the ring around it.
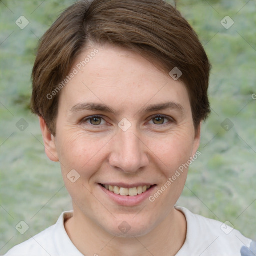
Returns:
[[[95,45],[84,50],[71,71],[75,75],[62,89],[59,100],[59,107],[66,110],[86,101],[111,105],[119,112],[163,101],[190,108],[181,81],[173,80],[140,55],[117,46]]]

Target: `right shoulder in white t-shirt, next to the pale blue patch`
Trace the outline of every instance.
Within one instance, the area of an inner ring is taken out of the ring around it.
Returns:
[[[195,252],[192,255],[241,256],[241,248],[250,247],[252,240],[243,236],[230,222],[206,218],[184,207],[175,208],[183,212],[187,222],[186,241],[181,249]]]

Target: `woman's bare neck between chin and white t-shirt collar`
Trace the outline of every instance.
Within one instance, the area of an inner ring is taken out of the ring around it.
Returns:
[[[118,237],[77,213],[74,208],[73,217],[65,222],[65,229],[84,255],[174,256],[185,242],[186,219],[183,213],[173,208],[149,233],[139,237]]]

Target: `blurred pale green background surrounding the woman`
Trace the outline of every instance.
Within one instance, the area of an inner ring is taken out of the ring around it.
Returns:
[[[59,164],[44,153],[29,99],[38,39],[73,2],[0,1],[0,254],[71,209]],[[228,220],[256,240],[255,1],[177,0],[176,5],[212,64],[212,113],[202,127],[201,156],[192,163],[177,204]],[[22,15],[29,21],[24,29],[15,24]],[[234,21],[229,29],[220,23],[227,15]],[[15,229],[21,220],[29,225],[24,234]]]

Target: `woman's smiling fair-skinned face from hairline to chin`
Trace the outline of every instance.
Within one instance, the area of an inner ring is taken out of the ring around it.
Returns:
[[[61,164],[76,218],[112,235],[144,235],[175,210],[187,169],[176,171],[195,154],[199,132],[181,81],[125,49],[95,48],[81,70],[94,48],[80,54],[61,90],[46,153]]]

